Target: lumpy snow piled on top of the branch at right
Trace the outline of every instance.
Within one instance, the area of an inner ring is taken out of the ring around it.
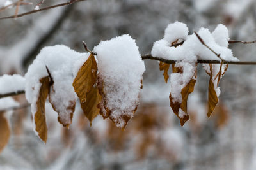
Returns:
[[[175,36],[170,36],[172,34]],[[222,59],[238,60],[233,56],[232,50],[226,46],[229,36],[225,25],[219,24],[212,34],[209,29],[200,28],[198,34],[206,45],[210,46],[216,53],[221,54]],[[185,35],[188,35],[186,24],[180,24],[180,22],[169,24],[165,30],[164,39],[154,43],[152,55],[168,60],[187,60],[188,62],[195,62],[196,59],[220,60],[211,50],[202,45],[195,33],[189,36]],[[185,40],[183,45],[177,46],[177,48],[170,46],[177,39]]]

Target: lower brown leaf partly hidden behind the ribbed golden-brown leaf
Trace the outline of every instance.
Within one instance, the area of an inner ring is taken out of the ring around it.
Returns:
[[[102,96],[99,94],[97,86],[92,87],[92,90],[86,94],[87,99],[84,103],[81,103],[81,108],[84,111],[84,115],[90,120],[92,124],[93,118],[99,114],[99,108],[97,105],[102,100]]]

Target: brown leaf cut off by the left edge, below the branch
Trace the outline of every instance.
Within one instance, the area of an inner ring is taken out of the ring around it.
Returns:
[[[10,127],[8,121],[4,117],[4,112],[0,112],[0,153],[7,145],[10,138]]]

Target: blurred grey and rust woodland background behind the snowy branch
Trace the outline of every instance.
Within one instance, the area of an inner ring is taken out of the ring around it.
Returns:
[[[13,0],[12,3],[16,1]],[[19,7],[31,11],[40,1]],[[45,0],[40,8],[66,1]],[[0,9],[6,0],[0,0]],[[0,10],[0,17],[16,8]],[[24,75],[44,46],[64,44],[84,52],[101,40],[122,34],[136,39],[141,55],[150,53],[166,26],[176,20],[189,33],[216,25],[228,27],[230,39],[256,39],[255,0],[87,0],[32,15],[0,20],[0,76]],[[234,56],[256,61],[255,44],[230,45]],[[76,107],[70,129],[46,104],[48,141],[33,132],[31,108],[13,110],[12,136],[0,154],[0,169],[256,169],[256,66],[230,65],[221,79],[220,103],[207,113],[209,76],[198,66],[191,115],[184,127],[170,108],[170,81],[164,82],[156,60],[145,60],[140,106],[125,131],[99,115],[86,120]],[[15,96],[21,105],[24,95]]]

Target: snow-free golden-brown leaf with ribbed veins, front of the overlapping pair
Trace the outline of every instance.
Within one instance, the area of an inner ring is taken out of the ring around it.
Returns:
[[[97,80],[97,63],[94,56],[88,57],[83,66],[79,69],[77,76],[73,82],[74,90],[79,97],[81,103],[86,101],[86,94],[90,92]]]

